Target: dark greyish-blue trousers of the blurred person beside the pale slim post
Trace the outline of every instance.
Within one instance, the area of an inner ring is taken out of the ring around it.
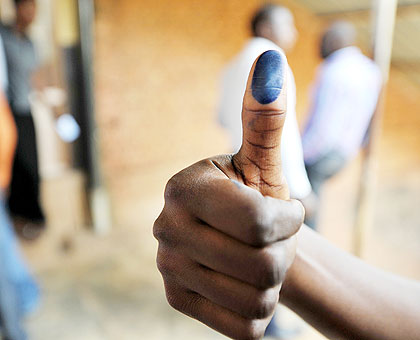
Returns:
[[[336,175],[346,165],[346,158],[337,151],[330,151],[318,159],[315,163],[305,164],[306,172],[308,174],[309,182],[311,182],[312,190],[318,197],[318,206],[315,209],[315,214],[305,219],[305,224],[308,227],[316,230],[318,211],[320,209],[321,192],[325,182]]]

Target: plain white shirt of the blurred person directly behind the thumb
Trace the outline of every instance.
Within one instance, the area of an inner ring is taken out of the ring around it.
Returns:
[[[222,76],[219,123],[231,137],[233,151],[242,145],[242,100],[248,75],[257,57],[268,50],[283,51],[264,38],[252,38],[227,65]],[[283,172],[293,198],[304,198],[312,190],[303,162],[302,143],[296,120],[296,85],[289,67],[287,75],[287,115],[281,143]]]

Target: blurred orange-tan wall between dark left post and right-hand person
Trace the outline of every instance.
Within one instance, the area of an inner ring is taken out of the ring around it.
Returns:
[[[215,122],[219,75],[247,39],[259,3],[96,2],[97,112],[108,174],[226,151]],[[319,25],[295,13],[300,42],[290,63],[305,93]]]

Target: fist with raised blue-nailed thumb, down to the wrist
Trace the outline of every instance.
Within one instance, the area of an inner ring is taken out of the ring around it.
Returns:
[[[289,200],[280,142],[287,61],[254,63],[243,101],[243,144],[176,174],[154,224],[169,304],[234,339],[264,335],[295,256],[304,211]]]

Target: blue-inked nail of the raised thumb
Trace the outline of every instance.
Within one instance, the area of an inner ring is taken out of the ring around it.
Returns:
[[[274,102],[280,95],[284,83],[284,61],[277,51],[264,52],[255,65],[252,77],[252,96],[260,104]]]

